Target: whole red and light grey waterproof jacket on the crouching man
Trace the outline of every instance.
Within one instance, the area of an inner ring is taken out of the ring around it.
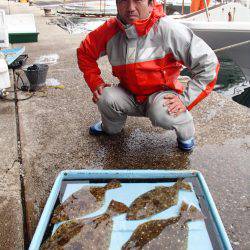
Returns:
[[[171,89],[188,110],[212,91],[219,71],[213,50],[189,28],[165,16],[160,6],[146,20],[124,25],[111,18],[87,35],[77,57],[92,92],[104,83],[96,62],[104,55],[120,85],[139,103],[152,93]],[[192,73],[185,86],[177,80],[183,65]]]

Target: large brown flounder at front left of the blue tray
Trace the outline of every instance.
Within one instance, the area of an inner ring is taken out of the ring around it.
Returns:
[[[107,211],[102,215],[63,223],[41,246],[41,249],[108,249],[113,226],[112,217],[126,213],[127,209],[128,207],[123,203],[112,200]]]

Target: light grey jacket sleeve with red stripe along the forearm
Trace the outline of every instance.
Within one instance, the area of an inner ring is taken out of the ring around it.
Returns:
[[[171,52],[191,71],[191,80],[179,95],[191,110],[213,90],[219,71],[219,62],[213,50],[185,25],[175,22],[168,36]]]

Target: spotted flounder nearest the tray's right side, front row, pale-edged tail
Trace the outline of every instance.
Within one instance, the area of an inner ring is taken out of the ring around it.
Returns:
[[[187,249],[188,226],[191,220],[202,220],[203,214],[194,206],[183,202],[177,217],[151,220],[139,225],[122,250],[129,249]]]

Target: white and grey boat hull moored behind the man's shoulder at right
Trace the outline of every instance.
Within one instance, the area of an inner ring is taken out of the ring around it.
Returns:
[[[202,10],[177,20],[192,29],[214,50],[250,41],[249,8],[239,3],[228,3],[213,6],[208,13],[209,17]],[[250,81],[250,42],[224,49],[217,55],[219,58],[226,56],[232,59]]]

